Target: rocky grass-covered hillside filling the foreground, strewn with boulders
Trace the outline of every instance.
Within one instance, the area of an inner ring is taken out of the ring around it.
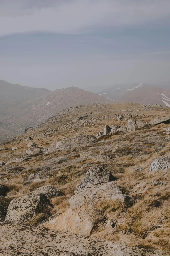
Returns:
[[[170,254],[170,109],[69,107],[0,145],[0,255]]]

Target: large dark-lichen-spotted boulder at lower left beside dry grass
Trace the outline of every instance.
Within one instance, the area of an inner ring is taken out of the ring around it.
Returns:
[[[29,193],[26,196],[15,198],[8,206],[5,221],[13,223],[30,222],[47,205],[51,205],[51,203],[45,194],[35,195]]]

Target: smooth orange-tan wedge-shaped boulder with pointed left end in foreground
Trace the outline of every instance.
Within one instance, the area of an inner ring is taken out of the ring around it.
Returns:
[[[45,222],[44,227],[62,232],[90,236],[103,216],[93,207],[83,206],[66,212]]]

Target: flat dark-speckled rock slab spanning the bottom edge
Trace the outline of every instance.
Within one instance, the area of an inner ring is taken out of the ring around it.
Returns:
[[[160,251],[130,247],[100,238],[59,232],[43,226],[0,223],[4,256],[168,256]]]

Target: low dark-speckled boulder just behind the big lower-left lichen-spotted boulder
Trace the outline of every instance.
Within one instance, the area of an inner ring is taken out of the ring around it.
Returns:
[[[45,196],[47,196],[47,199],[63,196],[63,192],[60,191],[59,189],[56,189],[52,185],[45,185],[45,186],[36,188],[35,190],[32,191],[32,194],[33,195],[45,194]]]

